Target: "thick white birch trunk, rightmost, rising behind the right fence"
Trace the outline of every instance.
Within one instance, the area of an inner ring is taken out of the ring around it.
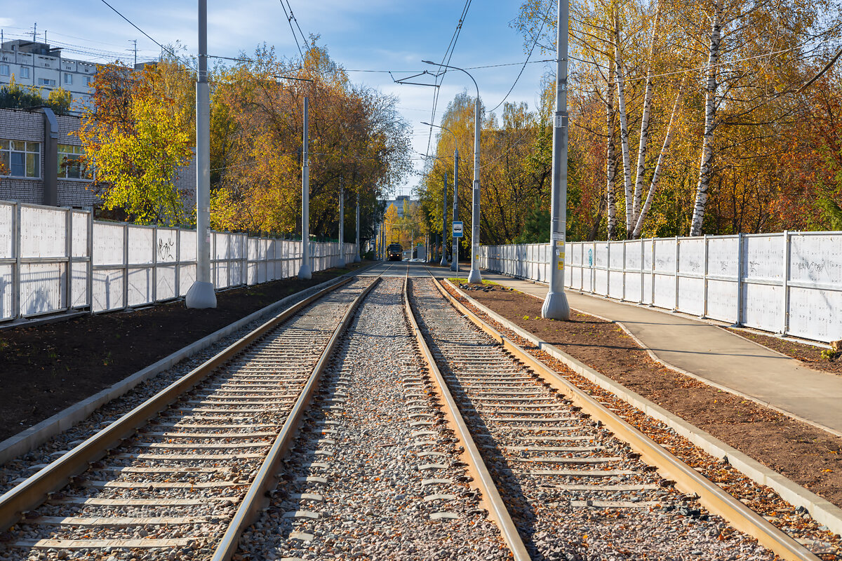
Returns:
[[[713,22],[711,24],[711,43],[707,58],[707,85],[705,93],[705,136],[701,143],[701,161],[699,163],[699,184],[695,188],[693,221],[690,224],[690,236],[701,236],[701,225],[705,220],[707,189],[711,185],[713,171],[713,131],[717,127],[717,62],[722,44],[722,0],[713,3]]]

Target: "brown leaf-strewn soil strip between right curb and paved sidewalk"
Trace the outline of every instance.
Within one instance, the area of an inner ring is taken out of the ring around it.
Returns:
[[[613,323],[573,312],[541,319],[541,300],[499,286],[468,293],[499,315],[647,400],[842,506],[842,438],[655,363]]]

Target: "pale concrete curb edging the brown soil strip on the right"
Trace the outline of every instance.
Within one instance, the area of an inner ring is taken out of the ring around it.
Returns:
[[[450,281],[447,282],[450,283]],[[453,285],[450,284],[450,286]],[[679,416],[673,415],[668,410],[663,409],[663,407],[653,404],[653,402],[647,400],[639,394],[636,394],[632,390],[627,389],[622,384],[617,384],[614,380],[607,378],[603,374],[594,370],[594,368],[590,368],[586,364],[578,361],[576,358],[571,357],[566,352],[559,350],[557,347],[553,347],[550,343],[542,341],[538,337],[532,335],[529,331],[525,331],[520,326],[514,325],[514,323],[505,319],[503,316],[497,314],[493,310],[489,310],[488,307],[480,304],[477,300],[472,299],[471,296],[465,294],[465,292],[461,290],[459,290],[459,292],[468,299],[472,305],[476,306],[478,310],[482,310],[488,314],[489,317],[497,320],[501,325],[505,325],[507,329],[514,331],[527,341],[532,342],[532,344],[536,345],[536,347],[541,349],[541,351],[546,352],[548,355],[556,358],[561,363],[564,363],[564,365],[573,370],[573,372],[587,378],[590,382],[600,386],[600,388],[615,394],[621,400],[626,401],[626,403],[636,407],[638,410],[642,410],[642,412],[654,419],[663,422],[680,436],[685,437],[706,453],[711,454],[714,458],[727,458],[728,463],[738,469],[739,472],[749,479],[775,490],[778,495],[781,495],[783,500],[786,500],[791,505],[803,506],[807,509],[807,511],[810,511],[810,515],[813,516],[815,521],[828,527],[831,532],[842,534],[842,509],[838,506],[816,495],[812,491],[804,489],[801,485],[795,483],[791,479],[787,479],[774,470],[767,468],[765,465],[759,463],[754,458],[749,457],[747,454],[740,452],[736,448],[728,446],[717,437],[713,437],[706,431],[702,431],[700,428],[691,425]]]

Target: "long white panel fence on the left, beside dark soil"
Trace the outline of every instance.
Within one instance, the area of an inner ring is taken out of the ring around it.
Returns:
[[[301,245],[211,232],[211,278],[224,289],[295,276]],[[355,244],[309,247],[313,272],[356,255]],[[195,278],[195,230],[98,222],[88,211],[0,201],[0,322],[163,302],[183,297]]]

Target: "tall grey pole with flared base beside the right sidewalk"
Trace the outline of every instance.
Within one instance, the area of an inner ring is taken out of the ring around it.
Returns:
[[[568,214],[568,11],[569,0],[558,0],[556,54],[556,114],[552,123],[552,230],[550,230],[550,289],[541,316],[569,320],[564,295],[564,242]]]

